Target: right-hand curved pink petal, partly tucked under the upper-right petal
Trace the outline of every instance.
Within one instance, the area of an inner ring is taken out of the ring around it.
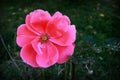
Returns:
[[[76,29],[74,25],[71,25],[66,33],[61,37],[51,38],[50,41],[61,46],[67,46],[72,44],[76,39]]]

